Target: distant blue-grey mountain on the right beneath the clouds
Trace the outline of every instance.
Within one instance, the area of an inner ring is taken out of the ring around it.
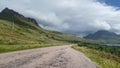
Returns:
[[[100,30],[84,37],[85,39],[97,40],[104,43],[120,43],[120,35],[106,30]]]

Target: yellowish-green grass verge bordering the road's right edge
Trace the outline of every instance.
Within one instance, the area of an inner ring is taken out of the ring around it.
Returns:
[[[72,46],[72,48],[83,52],[86,56],[88,56],[92,61],[95,61],[102,68],[120,68],[120,57],[84,46],[75,45]]]

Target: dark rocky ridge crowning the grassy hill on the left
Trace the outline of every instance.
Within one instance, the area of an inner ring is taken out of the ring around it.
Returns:
[[[7,18],[8,17],[8,18]],[[5,20],[8,20],[8,21],[13,21],[14,18],[22,18],[28,22],[32,22],[34,23],[35,25],[39,26],[37,21],[34,19],[34,18],[30,18],[30,17],[25,17],[23,16],[22,14],[12,10],[12,9],[9,9],[9,8],[5,8],[1,11],[0,13],[0,19],[5,19]]]

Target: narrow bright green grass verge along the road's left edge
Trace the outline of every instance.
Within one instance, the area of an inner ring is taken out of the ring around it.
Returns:
[[[50,47],[50,46],[59,46],[59,45],[64,45],[64,44],[56,43],[56,44],[0,45],[0,53],[19,51],[19,50],[26,50],[26,49],[34,49],[34,48],[43,48],[43,47]]]

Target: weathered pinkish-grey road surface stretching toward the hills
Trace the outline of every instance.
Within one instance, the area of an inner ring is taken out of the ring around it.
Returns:
[[[0,68],[99,68],[70,46],[55,46],[0,54]]]

